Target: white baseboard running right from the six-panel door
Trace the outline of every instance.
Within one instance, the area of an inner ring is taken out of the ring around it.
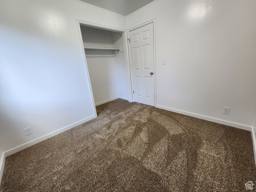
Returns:
[[[228,126],[236,127],[236,128],[243,129],[243,130],[246,130],[246,131],[252,131],[251,126],[242,125],[242,124],[238,124],[238,123],[232,123],[232,122],[229,122],[229,121],[223,121],[223,120],[220,120],[220,119],[215,119],[215,118],[207,117],[207,116],[204,116],[204,115],[198,115],[198,114],[195,114],[195,113],[189,113],[189,112],[186,112],[186,111],[181,111],[181,110],[172,109],[172,108],[169,108],[169,107],[164,107],[164,106],[161,106],[161,105],[156,105],[156,107],[160,108],[160,109],[165,109],[167,111],[172,111],[172,112],[180,113],[180,114],[183,114],[183,115],[188,115],[188,116],[195,117],[195,118],[198,118],[198,119],[203,119],[203,120],[206,120],[206,121],[211,121],[211,122],[214,122],[214,123],[228,125]]]

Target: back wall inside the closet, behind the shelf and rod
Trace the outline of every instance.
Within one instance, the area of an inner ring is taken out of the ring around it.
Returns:
[[[112,31],[80,26],[84,47],[113,49]],[[86,52],[94,102],[118,97],[114,54],[106,51]]]

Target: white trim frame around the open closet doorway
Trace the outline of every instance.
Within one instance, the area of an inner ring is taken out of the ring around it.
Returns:
[[[93,93],[92,93],[92,85],[91,85],[89,70],[88,70],[88,66],[87,66],[86,55],[85,55],[85,52],[84,52],[84,45],[83,45],[83,39],[82,39],[82,33],[81,33],[80,25],[87,26],[87,27],[98,28],[98,29],[104,29],[104,30],[108,30],[108,31],[119,32],[119,33],[122,33],[122,36],[123,36],[123,33],[124,33],[125,37],[123,37],[123,38],[125,38],[125,41],[123,40],[123,43],[126,42],[123,45],[124,46],[125,72],[126,72],[127,88],[128,88],[128,92],[130,92],[128,99],[129,99],[129,102],[132,102],[133,101],[133,95],[132,95],[131,68],[130,68],[130,56],[129,56],[129,47],[128,47],[129,45],[128,45],[128,40],[127,40],[128,39],[128,31],[126,29],[114,28],[114,27],[110,27],[110,26],[100,25],[100,24],[97,24],[97,23],[82,21],[82,20],[79,20],[79,19],[76,19],[76,24],[77,24],[77,30],[78,30],[81,49],[82,49],[82,54],[83,54],[84,68],[85,68],[85,71],[86,71],[87,80],[89,82],[92,104],[93,104],[93,107],[94,107],[94,114],[95,114],[95,118],[96,118],[97,117],[96,106],[95,106]]]

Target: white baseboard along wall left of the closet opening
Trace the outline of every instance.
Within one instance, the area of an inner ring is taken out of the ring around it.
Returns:
[[[78,122],[76,122],[76,123],[73,123],[72,125],[63,127],[63,128],[61,128],[61,129],[59,129],[59,130],[57,130],[57,131],[54,131],[54,132],[49,133],[49,134],[47,134],[47,135],[45,135],[45,136],[39,137],[39,138],[37,138],[37,139],[35,139],[35,140],[33,140],[33,141],[30,141],[30,142],[28,142],[28,143],[25,143],[25,144],[23,144],[23,145],[20,145],[20,146],[18,146],[18,147],[15,147],[15,148],[13,148],[13,149],[11,149],[11,150],[9,150],[9,151],[6,151],[6,152],[5,152],[5,155],[6,155],[6,157],[7,157],[7,156],[9,156],[9,155],[12,155],[12,154],[14,154],[14,153],[17,153],[18,151],[21,151],[21,150],[23,150],[23,149],[25,149],[25,148],[27,148],[27,147],[30,147],[30,146],[32,146],[32,145],[35,145],[36,143],[39,143],[39,142],[41,142],[41,141],[44,141],[44,140],[46,140],[46,139],[48,139],[48,138],[50,138],[50,137],[52,137],[52,136],[58,135],[59,133],[62,133],[62,132],[64,132],[64,131],[67,131],[67,130],[69,130],[69,129],[71,129],[71,128],[77,126],[77,125],[80,125],[80,124],[82,124],[82,123],[85,123],[85,122],[87,122],[87,121],[90,121],[91,119],[94,119],[94,118],[95,118],[95,115],[93,115],[93,116],[91,116],[91,117],[88,117],[88,118],[86,118],[86,119],[84,119],[84,120],[78,121]]]

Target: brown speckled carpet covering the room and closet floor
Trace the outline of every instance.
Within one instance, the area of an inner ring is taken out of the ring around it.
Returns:
[[[96,119],[6,157],[0,191],[248,191],[245,183],[256,183],[249,131],[122,99],[96,108]]]

